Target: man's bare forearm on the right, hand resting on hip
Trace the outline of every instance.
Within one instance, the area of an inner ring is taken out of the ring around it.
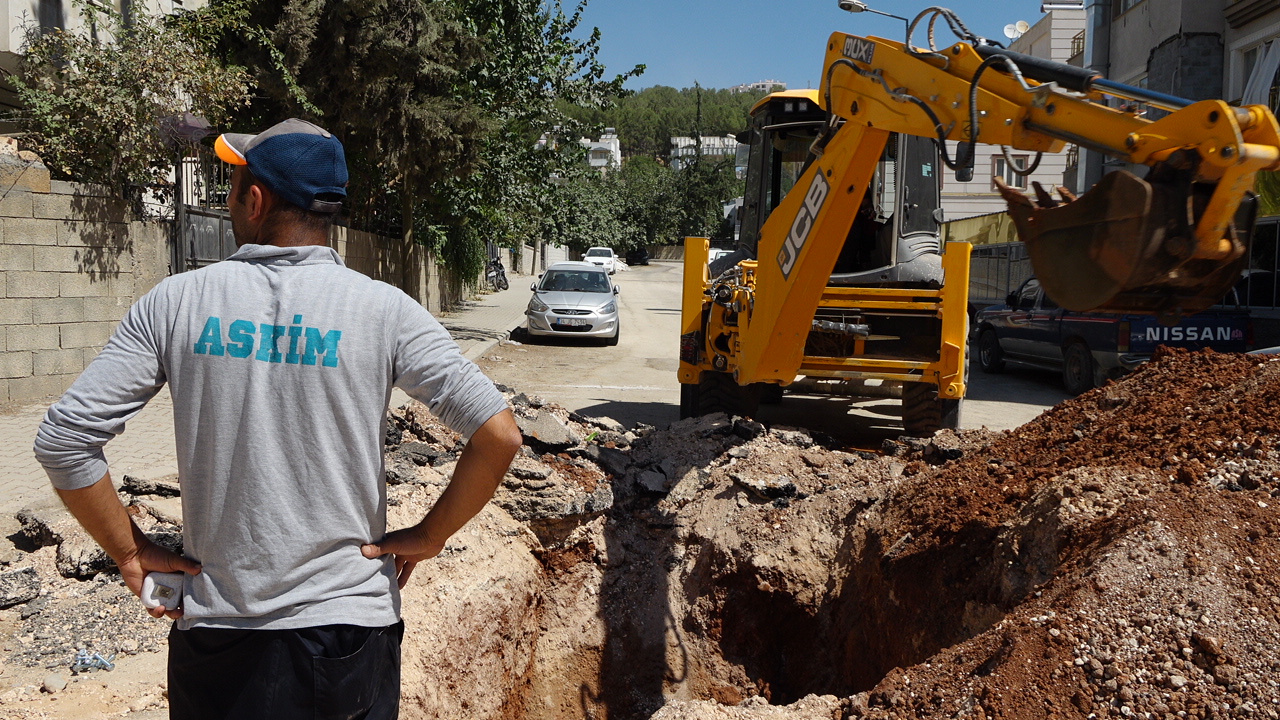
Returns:
[[[490,418],[458,457],[449,487],[422,519],[426,537],[440,546],[484,509],[520,450],[520,428],[511,410]]]

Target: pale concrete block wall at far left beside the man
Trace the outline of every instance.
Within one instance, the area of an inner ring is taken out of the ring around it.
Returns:
[[[0,145],[0,404],[60,395],[169,273],[168,229]]]

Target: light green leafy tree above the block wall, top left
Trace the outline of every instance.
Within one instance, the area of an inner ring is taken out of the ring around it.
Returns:
[[[12,82],[24,145],[55,177],[101,183],[138,201],[172,188],[175,151],[163,118],[192,113],[220,123],[248,100],[248,74],[221,64],[173,18],[124,24],[110,6],[77,0],[83,29],[26,27]]]

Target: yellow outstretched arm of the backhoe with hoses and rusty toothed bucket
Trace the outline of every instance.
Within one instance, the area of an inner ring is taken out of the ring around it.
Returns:
[[[1036,274],[1070,310],[1180,315],[1220,301],[1244,261],[1254,176],[1280,169],[1265,106],[1190,102],[991,45],[918,50],[835,33],[826,68],[833,115],[956,141],[943,161],[961,181],[978,142],[1038,152],[1071,142],[1151,165],[1146,179],[1111,173],[1079,200],[1005,192]],[[1151,120],[1107,96],[1167,114]]]

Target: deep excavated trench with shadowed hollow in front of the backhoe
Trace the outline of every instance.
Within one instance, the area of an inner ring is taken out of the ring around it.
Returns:
[[[726,439],[732,447],[741,438]],[[916,457],[908,462],[916,473],[931,468],[920,460],[925,446],[892,445]],[[735,480],[736,464],[719,466],[681,509],[654,493],[627,497],[630,478],[621,478],[607,529],[543,556],[552,570],[547,602],[577,592],[582,577],[568,570],[609,548],[637,560],[589,575],[599,582],[595,610],[604,626],[602,647],[589,653],[596,662],[572,676],[552,669],[558,687],[539,678],[530,687],[544,694],[593,687],[590,717],[649,717],[672,696],[726,705],[751,696],[772,705],[854,696],[895,667],[987,630],[1056,569],[1059,538],[1039,515],[1004,532],[960,527],[945,542],[913,547],[913,536],[895,534],[884,512],[908,464],[768,437],[739,447],[750,450],[748,461],[758,454],[812,474],[810,465],[826,459],[855,471],[847,488],[829,482],[828,471],[813,495],[797,491],[799,498],[778,503]],[[564,716],[521,705],[520,717]]]

